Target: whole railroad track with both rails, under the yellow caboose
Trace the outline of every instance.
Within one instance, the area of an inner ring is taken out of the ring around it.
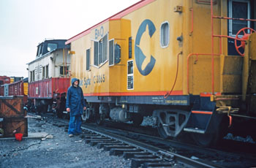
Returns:
[[[68,121],[54,118],[68,123]],[[110,155],[131,160],[131,167],[253,167],[255,158],[200,148],[146,134],[83,123],[81,138]]]

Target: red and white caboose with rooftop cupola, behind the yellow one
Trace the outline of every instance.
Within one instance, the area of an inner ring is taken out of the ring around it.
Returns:
[[[54,112],[61,117],[70,85],[69,45],[65,39],[45,39],[29,63],[29,104],[37,112]]]

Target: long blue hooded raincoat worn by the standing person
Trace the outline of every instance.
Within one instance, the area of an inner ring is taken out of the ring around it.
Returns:
[[[74,86],[77,80],[77,78],[72,78],[72,85],[67,90],[66,107],[70,108],[70,116],[83,114],[83,107],[86,107],[86,102],[83,99],[83,91],[79,86],[80,81],[78,80],[78,87]]]

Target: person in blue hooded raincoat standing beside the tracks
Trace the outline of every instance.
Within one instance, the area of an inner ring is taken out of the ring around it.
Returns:
[[[83,99],[83,91],[79,86],[79,82],[77,78],[72,78],[72,85],[67,89],[66,108],[70,115],[69,137],[82,132],[80,129],[82,124],[81,115],[83,114],[83,110],[86,110],[86,102]]]

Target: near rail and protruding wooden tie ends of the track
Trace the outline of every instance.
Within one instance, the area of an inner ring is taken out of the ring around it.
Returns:
[[[110,155],[132,160],[132,167],[217,167],[170,152],[167,146],[145,142],[133,134],[118,134],[94,126],[83,126],[86,143],[110,150]],[[91,134],[92,133],[92,134]]]

